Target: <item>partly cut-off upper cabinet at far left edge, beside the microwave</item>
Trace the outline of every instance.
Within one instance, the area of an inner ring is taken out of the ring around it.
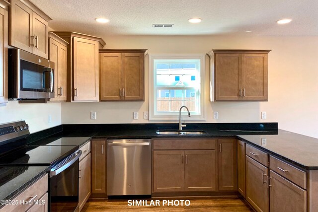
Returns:
[[[7,3],[0,0],[0,105],[8,101],[8,11]]]

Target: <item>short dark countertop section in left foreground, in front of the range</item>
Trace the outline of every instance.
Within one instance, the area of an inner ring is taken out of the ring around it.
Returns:
[[[50,166],[0,166],[0,200],[9,200],[50,170]]]

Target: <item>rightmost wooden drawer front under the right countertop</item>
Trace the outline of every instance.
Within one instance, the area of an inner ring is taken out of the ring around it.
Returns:
[[[293,183],[306,189],[307,173],[275,157],[269,157],[269,168]]]

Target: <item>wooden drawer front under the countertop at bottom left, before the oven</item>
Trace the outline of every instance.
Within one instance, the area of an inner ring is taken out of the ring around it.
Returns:
[[[26,188],[22,193],[13,198],[18,205],[6,205],[0,209],[0,212],[25,212],[33,206],[33,201],[40,200],[41,197],[48,191],[48,174],[41,177],[38,181]],[[35,198],[34,198],[35,197]],[[33,199],[34,198],[34,199]],[[32,204],[20,204],[23,201],[32,200]]]

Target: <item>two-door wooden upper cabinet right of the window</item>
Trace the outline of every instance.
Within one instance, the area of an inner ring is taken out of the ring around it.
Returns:
[[[271,50],[212,51],[216,101],[267,101],[267,55]]]

